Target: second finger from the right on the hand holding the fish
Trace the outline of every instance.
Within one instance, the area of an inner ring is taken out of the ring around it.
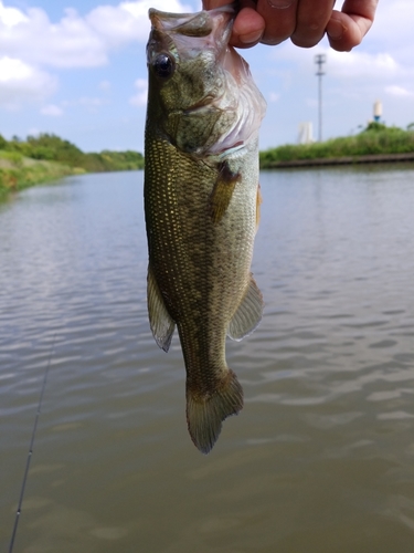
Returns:
[[[332,0],[299,0],[296,14],[296,29],[290,36],[297,46],[311,48],[318,44],[325,34],[332,13]]]

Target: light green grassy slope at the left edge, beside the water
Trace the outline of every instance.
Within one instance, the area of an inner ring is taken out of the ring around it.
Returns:
[[[39,161],[15,152],[0,150],[0,200],[11,191],[78,173],[85,171],[56,161]]]

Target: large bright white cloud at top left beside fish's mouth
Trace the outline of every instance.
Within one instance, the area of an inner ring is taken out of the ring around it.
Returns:
[[[36,65],[93,67],[108,62],[109,51],[129,42],[145,42],[149,33],[148,9],[191,11],[178,0],[137,0],[99,6],[85,17],[74,9],[52,23],[46,12],[24,13],[0,0],[0,51]]]

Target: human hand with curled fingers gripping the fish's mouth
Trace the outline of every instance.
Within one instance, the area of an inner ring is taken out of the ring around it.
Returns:
[[[290,39],[297,46],[311,48],[327,33],[331,48],[350,51],[370,30],[378,2],[344,0],[337,11],[335,0],[240,0],[230,42],[251,48]],[[229,0],[203,0],[205,10],[226,4]]]

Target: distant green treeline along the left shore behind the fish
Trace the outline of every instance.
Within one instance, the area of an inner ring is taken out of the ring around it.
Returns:
[[[0,150],[15,153],[32,159],[57,161],[87,173],[135,170],[144,168],[139,152],[109,152],[85,154],[77,146],[53,134],[28,136],[22,140],[14,136],[7,140],[0,135]]]

